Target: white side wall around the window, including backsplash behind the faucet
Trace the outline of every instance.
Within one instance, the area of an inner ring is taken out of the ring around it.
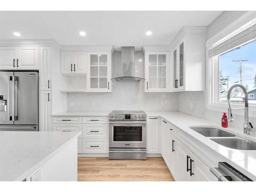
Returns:
[[[206,41],[210,38],[216,38],[215,34],[217,33],[219,36],[221,30],[224,30],[224,28],[226,29],[229,24],[233,25],[232,22],[237,22],[237,19],[241,19],[241,17],[244,17],[246,14],[247,12],[245,11],[224,11],[207,27]],[[231,32],[232,31],[229,33]],[[180,92],[178,95],[178,102],[180,112],[208,119],[220,123],[221,125],[222,111],[206,109],[205,91]],[[227,111],[227,108],[224,110]],[[254,112],[251,111],[251,114],[254,114]],[[233,118],[235,121],[231,123],[229,122],[229,126],[232,127],[232,129],[239,129],[242,131],[244,111],[236,111],[236,114],[233,114]],[[256,126],[256,117],[250,116],[250,121],[252,122],[252,125]],[[256,133],[255,130],[253,130],[253,132]]]

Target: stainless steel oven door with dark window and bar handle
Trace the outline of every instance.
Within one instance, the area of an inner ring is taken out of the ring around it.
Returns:
[[[146,148],[146,122],[110,122],[110,148]]]

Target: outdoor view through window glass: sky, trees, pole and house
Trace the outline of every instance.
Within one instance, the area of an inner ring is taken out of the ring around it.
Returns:
[[[221,54],[219,59],[220,101],[227,100],[228,89],[239,83],[246,88],[249,102],[256,103],[256,40]],[[243,102],[243,98],[242,90],[235,88],[230,100]]]

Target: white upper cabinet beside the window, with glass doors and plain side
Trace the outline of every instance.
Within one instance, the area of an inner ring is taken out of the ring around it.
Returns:
[[[205,90],[206,27],[183,27],[171,43],[170,91]]]

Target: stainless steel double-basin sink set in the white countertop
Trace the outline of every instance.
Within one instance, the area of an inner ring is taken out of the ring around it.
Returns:
[[[190,127],[191,130],[209,137],[210,140],[236,150],[256,150],[256,142],[213,127]],[[211,137],[211,138],[210,138]]]

